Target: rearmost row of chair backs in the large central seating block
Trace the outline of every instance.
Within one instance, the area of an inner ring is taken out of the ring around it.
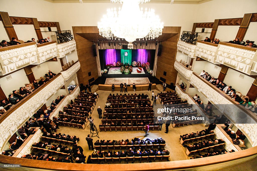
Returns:
[[[159,125],[158,126],[149,126],[149,130],[157,131],[159,130]],[[143,131],[144,126],[105,126],[105,127],[100,127],[100,132],[101,131]]]

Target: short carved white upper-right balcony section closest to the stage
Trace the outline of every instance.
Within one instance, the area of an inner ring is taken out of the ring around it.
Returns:
[[[178,41],[177,48],[178,51],[182,52],[185,55],[188,55],[190,58],[196,58],[196,45],[183,41]]]

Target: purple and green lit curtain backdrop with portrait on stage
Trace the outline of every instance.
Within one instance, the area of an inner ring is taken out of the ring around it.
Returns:
[[[118,61],[130,65],[133,61],[140,61],[141,64],[149,62],[152,68],[154,56],[155,50],[152,49],[99,49],[101,69],[105,69],[107,64],[113,64]]]

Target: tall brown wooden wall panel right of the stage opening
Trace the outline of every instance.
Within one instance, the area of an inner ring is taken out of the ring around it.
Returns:
[[[177,54],[177,42],[179,34],[171,37],[167,41],[162,42],[162,53],[158,57],[157,69],[156,69],[156,78],[160,77],[166,79],[166,84],[173,83],[175,85],[178,72],[174,68],[174,63]],[[166,76],[163,75],[163,72],[167,72]]]

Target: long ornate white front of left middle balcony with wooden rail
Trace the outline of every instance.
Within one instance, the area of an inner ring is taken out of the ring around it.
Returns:
[[[7,140],[64,85],[61,73],[40,86],[0,117],[0,148]]]

